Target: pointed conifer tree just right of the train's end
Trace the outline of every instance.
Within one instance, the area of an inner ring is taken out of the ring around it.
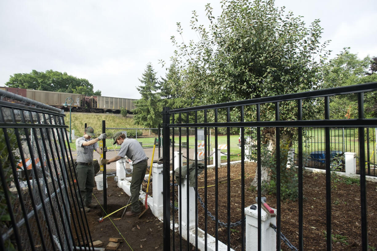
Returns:
[[[136,89],[141,94],[141,99],[135,101],[133,119],[136,124],[146,128],[156,128],[162,122],[162,104],[159,102],[161,83],[156,78],[156,72],[151,63],[147,64],[143,77],[139,81],[142,85]]]

